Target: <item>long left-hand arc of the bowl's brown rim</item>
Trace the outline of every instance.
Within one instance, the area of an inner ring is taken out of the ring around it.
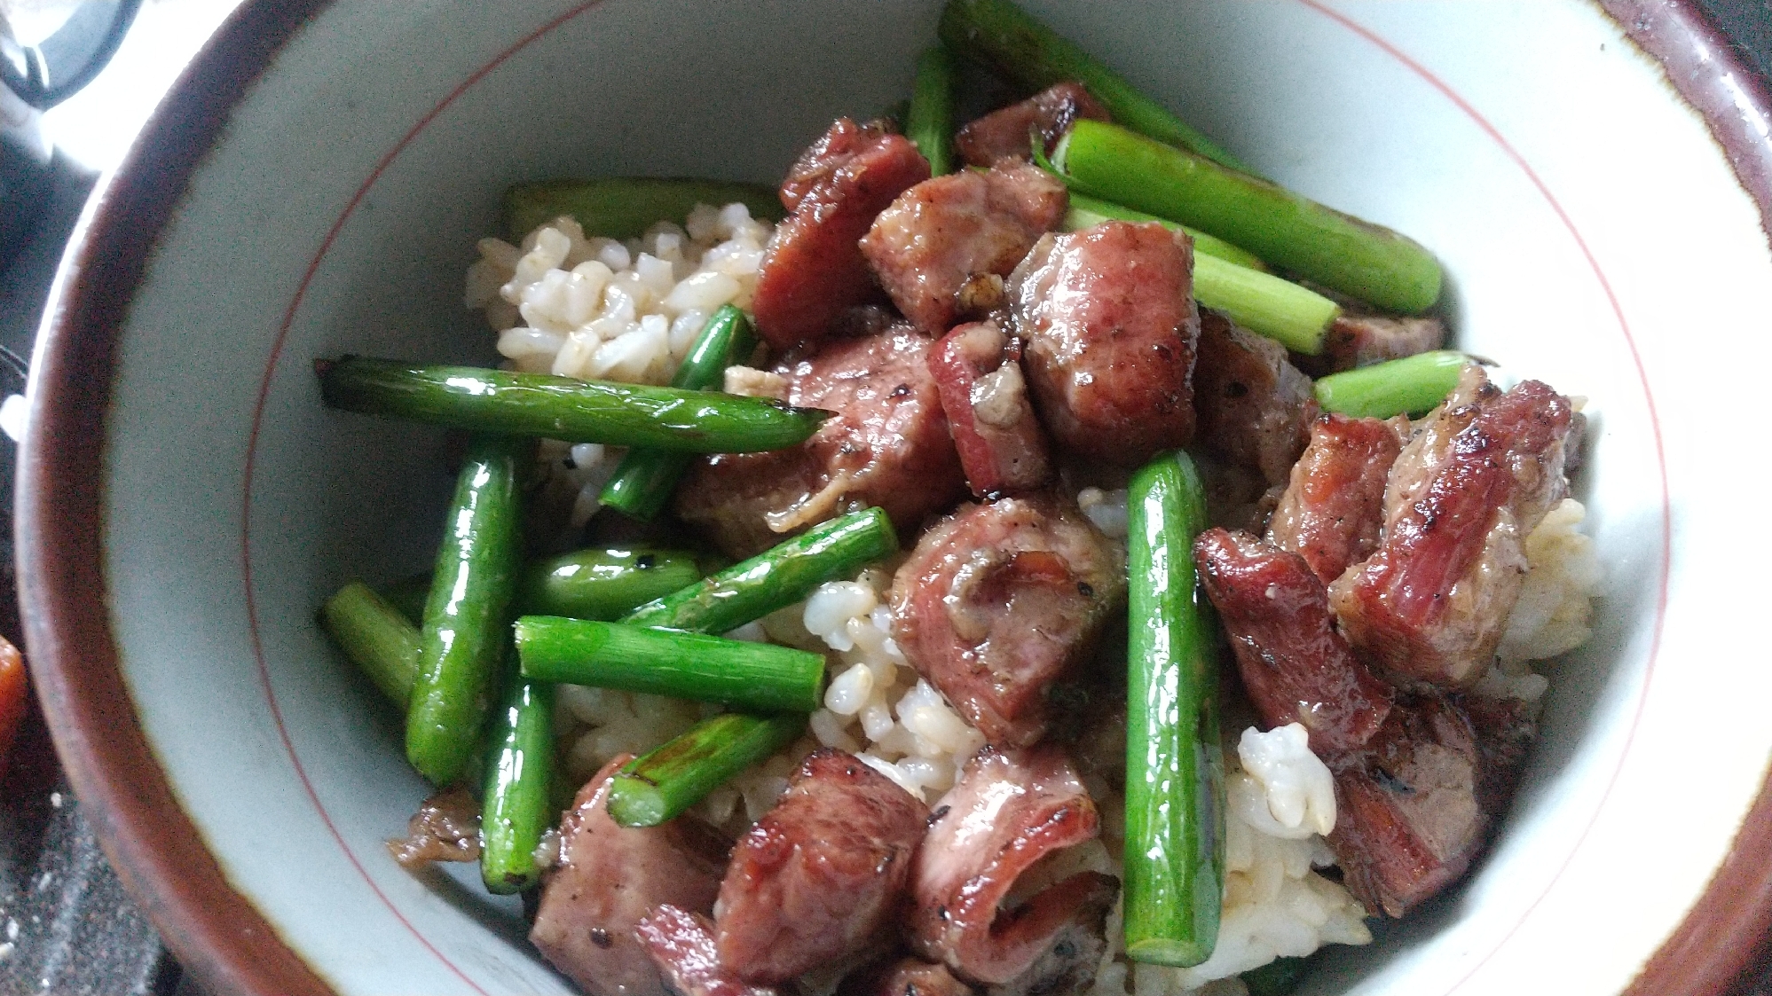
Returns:
[[[248,0],[184,69],[87,204],[50,294],[18,463],[19,603],[32,679],[82,812],[124,886],[209,992],[328,996],[179,808],[119,670],[101,468],[113,347],[154,236],[234,105],[330,0]]]

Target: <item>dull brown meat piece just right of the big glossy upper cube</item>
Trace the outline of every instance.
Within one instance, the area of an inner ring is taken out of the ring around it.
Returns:
[[[1310,440],[1317,399],[1285,346],[1201,310],[1194,415],[1212,452],[1285,484]]]

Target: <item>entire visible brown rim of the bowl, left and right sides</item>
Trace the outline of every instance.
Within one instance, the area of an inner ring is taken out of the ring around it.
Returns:
[[[246,0],[181,74],[122,167],[94,193],[62,262],[32,370],[19,457],[19,599],[55,746],[106,856],[213,992],[331,989],[227,883],[154,762],[122,682],[99,551],[105,411],[115,333],[149,250],[232,106],[330,0]],[[1772,97],[1692,0],[1600,0],[1706,121],[1772,232]],[[200,83],[198,83],[200,82]],[[1685,922],[1632,996],[1714,996],[1772,930],[1772,776]]]

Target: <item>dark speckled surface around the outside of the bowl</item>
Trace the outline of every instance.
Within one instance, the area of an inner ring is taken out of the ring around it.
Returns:
[[[1772,0],[1699,0],[1738,53],[1772,76]],[[37,230],[0,271],[0,346],[28,356],[60,250],[92,190],[82,167],[57,161]],[[0,397],[23,388],[0,354]],[[12,445],[0,440],[0,569],[11,588]],[[0,594],[0,633],[18,634],[16,606]],[[0,996],[27,992],[172,996],[177,964],[97,849],[55,764],[43,718],[25,721],[0,774]],[[1740,980],[1740,996],[1772,996],[1772,959]],[[213,994],[222,996],[222,994]]]

